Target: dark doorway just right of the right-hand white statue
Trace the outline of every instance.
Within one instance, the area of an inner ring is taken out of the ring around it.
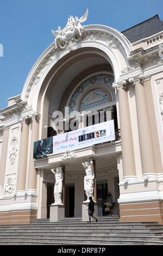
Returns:
[[[108,184],[97,184],[97,203],[98,203],[98,216],[104,215],[104,201],[108,193]]]

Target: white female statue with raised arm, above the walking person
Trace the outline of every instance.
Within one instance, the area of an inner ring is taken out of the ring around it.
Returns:
[[[84,190],[87,197],[87,201],[89,201],[89,197],[93,199],[93,188],[94,188],[94,168],[93,161],[86,161],[82,163],[85,168],[85,177],[84,177]]]

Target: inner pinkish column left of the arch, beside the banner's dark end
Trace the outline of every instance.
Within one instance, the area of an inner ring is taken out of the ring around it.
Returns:
[[[32,135],[30,139],[30,149],[29,149],[29,167],[28,167],[28,181],[27,181],[27,190],[36,191],[36,179],[37,173],[34,167],[33,159],[33,149],[34,142],[39,141],[39,120],[33,118],[32,120]]]

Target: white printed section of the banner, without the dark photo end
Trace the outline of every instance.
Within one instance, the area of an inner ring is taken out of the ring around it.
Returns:
[[[62,133],[53,137],[53,153],[114,141],[114,120]]]

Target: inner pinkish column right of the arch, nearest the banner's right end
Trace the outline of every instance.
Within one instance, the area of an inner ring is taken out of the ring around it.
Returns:
[[[118,89],[118,100],[120,106],[120,125],[121,125],[121,145],[123,176],[136,178],[133,134],[131,130],[131,120],[128,103],[128,93],[120,87]]]

